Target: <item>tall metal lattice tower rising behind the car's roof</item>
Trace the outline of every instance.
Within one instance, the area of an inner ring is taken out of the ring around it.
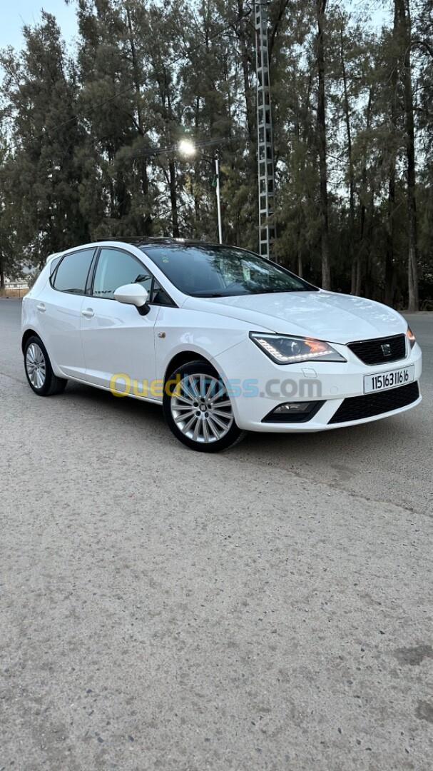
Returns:
[[[274,140],[270,107],[267,2],[254,4],[256,13],[257,139],[259,176],[260,254],[270,258],[275,238]]]

